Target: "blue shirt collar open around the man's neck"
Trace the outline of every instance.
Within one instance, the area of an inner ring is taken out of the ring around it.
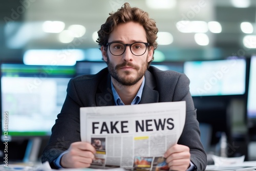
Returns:
[[[133,99],[133,101],[131,103],[132,105],[133,104],[138,104],[140,102],[140,99],[141,99],[141,96],[142,96],[142,91],[143,91],[143,88],[144,88],[144,84],[145,84],[145,77],[143,77],[143,81],[142,81],[142,84],[140,86],[140,89],[139,89],[137,95],[135,96],[135,98]],[[115,89],[112,81],[111,81],[111,88],[112,88],[115,104],[116,105],[124,105],[124,103],[120,99],[119,95],[117,94],[116,89]]]

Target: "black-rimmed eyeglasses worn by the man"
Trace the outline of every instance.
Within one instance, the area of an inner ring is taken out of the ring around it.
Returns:
[[[126,46],[130,47],[132,54],[135,56],[141,56],[146,52],[146,48],[150,46],[147,42],[134,42],[133,44],[122,44],[121,42],[108,42],[106,46],[110,47],[110,53],[114,56],[122,55]]]

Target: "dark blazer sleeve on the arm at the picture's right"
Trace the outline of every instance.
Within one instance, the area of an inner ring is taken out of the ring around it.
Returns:
[[[173,101],[186,101],[185,125],[178,144],[183,144],[190,148],[190,160],[197,167],[196,170],[205,170],[207,157],[200,140],[199,122],[194,102],[189,92],[189,83],[187,76],[181,74],[173,97]]]

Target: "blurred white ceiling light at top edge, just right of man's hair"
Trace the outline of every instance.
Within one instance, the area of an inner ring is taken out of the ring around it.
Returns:
[[[176,7],[177,0],[146,0],[146,5],[152,9],[170,9]]]

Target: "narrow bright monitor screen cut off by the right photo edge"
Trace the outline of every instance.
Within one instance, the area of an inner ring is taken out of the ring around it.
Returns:
[[[247,117],[256,120],[256,56],[252,56],[250,61]]]

